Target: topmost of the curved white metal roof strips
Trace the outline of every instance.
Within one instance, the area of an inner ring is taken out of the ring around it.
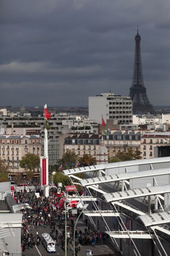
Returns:
[[[127,166],[136,166],[142,164],[152,164],[152,163],[162,163],[162,162],[170,162],[170,157],[158,157],[158,158],[150,158],[150,159],[139,159],[139,160],[131,160],[117,163],[105,163],[94,166],[85,166],[74,169],[63,170],[62,172],[65,175],[74,175],[77,173],[83,172],[94,172],[98,170],[111,169],[116,167],[127,167]]]

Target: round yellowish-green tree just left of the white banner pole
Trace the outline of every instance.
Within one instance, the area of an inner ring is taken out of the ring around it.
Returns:
[[[20,161],[20,167],[25,170],[31,171],[38,166],[40,166],[40,157],[35,154],[28,153]]]

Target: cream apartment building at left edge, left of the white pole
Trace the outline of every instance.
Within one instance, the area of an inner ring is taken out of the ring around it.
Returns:
[[[20,160],[27,153],[41,156],[39,135],[0,135],[0,159],[8,165],[11,173],[25,171],[20,168]]]

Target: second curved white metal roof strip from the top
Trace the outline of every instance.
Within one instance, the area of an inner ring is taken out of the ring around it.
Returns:
[[[102,176],[102,177],[93,177],[89,179],[82,179],[79,182],[82,186],[91,186],[99,183],[107,183],[118,180],[129,180],[133,178],[141,178],[141,177],[149,177],[149,176],[157,176],[157,175],[168,175],[170,174],[170,168],[164,169],[153,169],[147,171],[138,171],[138,172],[126,172],[126,173],[118,173],[114,175]]]

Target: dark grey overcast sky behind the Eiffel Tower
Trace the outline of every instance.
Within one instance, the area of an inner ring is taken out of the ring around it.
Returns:
[[[170,0],[1,1],[0,105],[128,96],[137,24],[147,95],[170,105]]]

